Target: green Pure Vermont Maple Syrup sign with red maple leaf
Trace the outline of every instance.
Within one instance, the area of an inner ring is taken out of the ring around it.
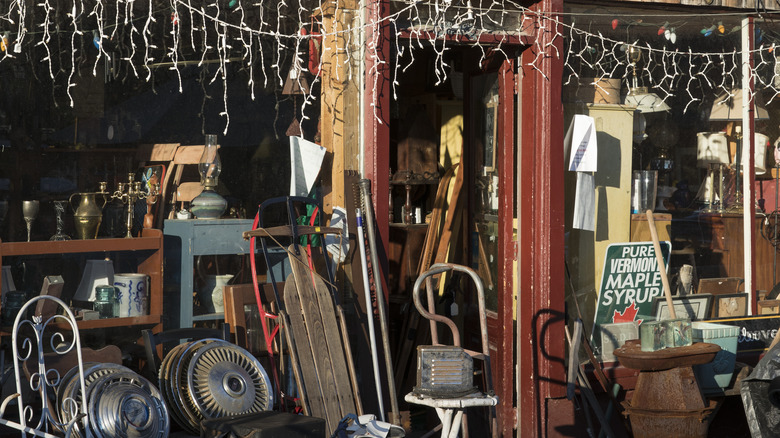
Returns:
[[[661,242],[664,269],[672,244]],[[596,325],[637,321],[653,311],[653,297],[663,295],[661,273],[652,242],[613,243],[604,256],[604,270],[596,306]]]

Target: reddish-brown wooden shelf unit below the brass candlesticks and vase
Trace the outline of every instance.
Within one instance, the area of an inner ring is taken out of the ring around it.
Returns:
[[[8,257],[46,257],[67,254],[94,254],[93,258],[130,256],[137,259],[137,272],[149,276],[149,315],[78,321],[79,330],[108,327],[151,326],[162,329],[162,231],[145,229],[141,237],[66,241],[1,242],[0,264]],[[0,272],[0,275],[2,273]],[[51,275],[59,275],[52,272]],[[2,278],[0,277],[0,280]],[[7,334],[7,333],[0,333]]]

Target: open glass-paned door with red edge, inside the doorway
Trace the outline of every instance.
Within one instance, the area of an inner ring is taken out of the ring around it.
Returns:
[[[469,187],[469,259],[485,288],[488,339],[499,396],[499,436],[514,425],[514,250],[515,65],[473,75],[468,84],[466,177]],[[476,299],[476,297],[474,297]],[[476,302],[465,310],[466,327],[477,315]],[[476,322],[476,319],[474,319]],[[464,333],[466,342],[479,333]]]

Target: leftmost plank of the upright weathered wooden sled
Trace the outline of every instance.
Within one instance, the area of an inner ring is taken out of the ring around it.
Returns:
[[[325,401],[323,399],[323,388],[317,377],[316,362],[312,354],[313,346],[309,342],[309,336],[306,332],[306,325],[303,322],[303,313],[301,311],[301,301],[298,298],[297,287],[293,275],[287,277],[284,284],[284,305],[287,308],[287,316],[290,319],[290,329],[295,342],[295,352],[298,356],[298,363],[301,366],[301,377],[303,378],[306,398],[311,408],[311,414],[315,417],[324,418],[328,422],[328,416],[325,412]],[[331,427],[328,422],[328,430],[335,430],[335,425]]]

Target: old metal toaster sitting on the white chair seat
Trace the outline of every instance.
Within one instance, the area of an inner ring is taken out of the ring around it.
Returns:
[[[417,386],[413,392],[433,398],[456,398],[476,391],[474,362],[461,347],[419,345]]]

